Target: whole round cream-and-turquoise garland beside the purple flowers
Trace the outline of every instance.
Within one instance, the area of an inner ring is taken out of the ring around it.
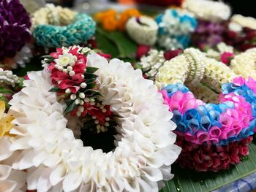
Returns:
[[[36,43],[43,47],[80,45],[95,32],[91,17],[53,4],[34,12],[32,23]]]

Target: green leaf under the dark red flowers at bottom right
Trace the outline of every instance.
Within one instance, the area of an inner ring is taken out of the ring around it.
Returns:
[[[249,146],[248,158],[244,158],[241,164],[231,166],[230,169],[221,172],[195,172],[190,169],[181,169],[174,165],[172,172],[175,174],[173,180],[165,183],[161,192],[208,192],[221,188],[228,183],[246,177],[256,172],[256,144],[252,142]]]

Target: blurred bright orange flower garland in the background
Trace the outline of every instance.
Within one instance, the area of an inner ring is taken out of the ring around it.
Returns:
[[[102,24],[102,28],[107,31],[124,31],[129,18],[140,17],[138,9],[126,9],[124,12],[118,13],[114,9],[109,9],[105,12],[97,12],[94,15],[95,20]]]

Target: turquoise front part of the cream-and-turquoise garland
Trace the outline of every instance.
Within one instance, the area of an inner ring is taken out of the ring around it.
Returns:
[[[38,25],[33,35],[37,45],[43,47],[80,45],[94,35],[95,28],[96,24],[89,15],[79,13],[75,15],[74,23],[67,26]]]

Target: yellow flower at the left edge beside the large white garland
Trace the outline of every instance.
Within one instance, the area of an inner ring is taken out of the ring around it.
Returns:
[[[4,110],[4,101],[0,101],[0,138],[4,135],[10,135],[9,131],[13,126],[11,122],[14,118],[5,114]]]

